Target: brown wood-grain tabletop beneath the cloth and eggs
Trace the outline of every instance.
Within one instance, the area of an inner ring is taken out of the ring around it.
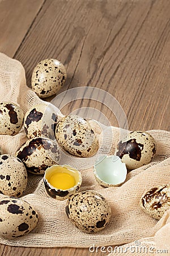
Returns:
[[[106,90],[120,102],[130,130],[170,130],[169,49],[169,0],[0,0],[0,52],[22,62],[28,86],[40,60],[61,60],[68,74],[63,90]],[[71,111],[89,104],[76,101]],[[105,106],[99,110],[117,126]],[[4,245],[0,254],[100,255]]]

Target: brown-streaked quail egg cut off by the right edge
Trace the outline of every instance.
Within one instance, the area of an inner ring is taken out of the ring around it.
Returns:
[[[165,210],[170,209],[170,185],[162,185],[145,192],[140,205],[148,214],[159,220]]]

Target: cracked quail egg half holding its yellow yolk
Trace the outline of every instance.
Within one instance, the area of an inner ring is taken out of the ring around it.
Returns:
[[[71,166],[54,165],[45,171],[44,184],[49,196],[65,200],[78,192],[82,184],[82,175]]]

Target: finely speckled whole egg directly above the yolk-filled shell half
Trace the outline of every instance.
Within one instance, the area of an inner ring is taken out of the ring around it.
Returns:
[[[75,156],[89,157],[99,149],[99,141],[90,123],[78,115],[66,115],[57,122],[56,139]]]

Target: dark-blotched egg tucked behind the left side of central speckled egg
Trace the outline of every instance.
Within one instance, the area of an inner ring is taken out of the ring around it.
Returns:
[[[39,104],[32,106],[25,113],[24,129],[29,139],[35,137],[54,138],[57,124],[56,107],[52,104]]]

